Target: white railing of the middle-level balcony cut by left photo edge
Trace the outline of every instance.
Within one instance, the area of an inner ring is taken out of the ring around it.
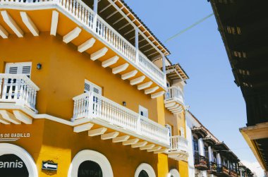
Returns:
[[[38,90],[27,75],[0,73],[0,102],[16,103],[36,111]]]

